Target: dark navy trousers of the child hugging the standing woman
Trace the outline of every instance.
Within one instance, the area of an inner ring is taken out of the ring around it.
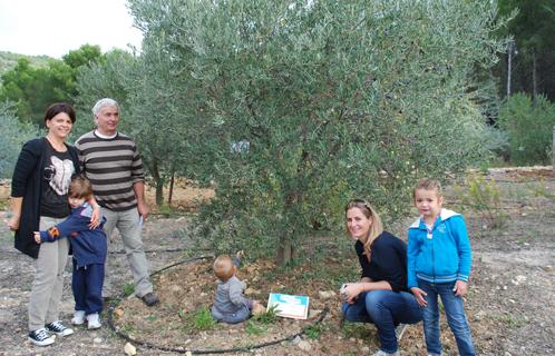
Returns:
[[[75,309],[85,310],[86,315],[103,310],[104,264],[93,264],[77,268],[74,259],[71,289]]]

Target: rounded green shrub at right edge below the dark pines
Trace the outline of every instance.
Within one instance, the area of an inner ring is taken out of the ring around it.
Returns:
[[[517,93],[499,109],[499,127],[509,137],[510,161],[515,165],[546,165],[552,159],[555,106],[544,96],[534,100]]]

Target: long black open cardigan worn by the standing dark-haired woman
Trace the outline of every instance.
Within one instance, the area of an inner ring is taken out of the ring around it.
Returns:
[[[16,248],[32,258],[39,256],[40,245],[35,243],[32,233],[39,230],[40,198],[47,152],[46,138],[27,141],[19,154],[13,177],[11,179],[11,196],[23,197],[19,229],[16,231]],[[79,174],[77,149],[66,145],[74,161],[75,174]]]

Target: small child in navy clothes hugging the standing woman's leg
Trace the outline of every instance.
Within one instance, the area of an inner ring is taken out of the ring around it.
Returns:
[[[68,190],[68,201],[71,214],[60,224],[46,231],[35,231],[37,244],[51,243],[59,238],[70,238],[74,254],[74,273],[71,289],[75,298],[74,325],[82,325],[85,318],[89,329],[100,325],[99,313],[103,310],[104,264],[107,254],[107,239],[103,230],[106,218],[94,229],[89,227],[93,207],[93,187],[84,177],[71,180]]]

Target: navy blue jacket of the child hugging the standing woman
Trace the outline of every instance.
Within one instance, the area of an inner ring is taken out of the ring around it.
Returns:
[[[107,254],[107,239],[103,230],[106,218],[103,217],[100,225],[90,229],[90,216],[93,208],[88,202],[71,209],[71,214],[60,224],[40,231],[41,241],[52,243],[64,237],[70,237],[69,243],[77,260],[77,267],[91,264],[104,264]]]

